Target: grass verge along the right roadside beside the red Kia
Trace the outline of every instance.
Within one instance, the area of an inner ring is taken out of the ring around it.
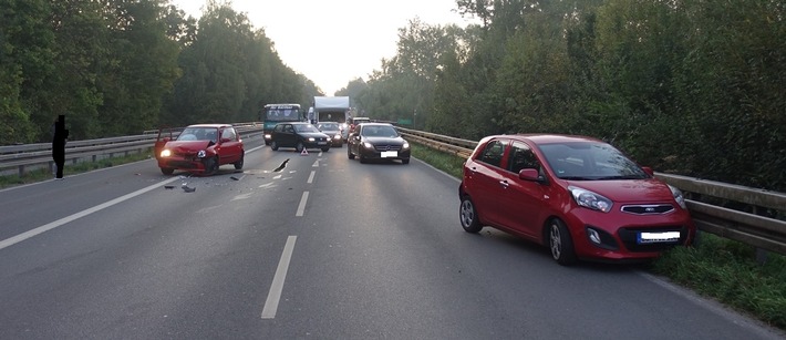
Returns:
[[[464,159],[427,146],[411,145],[414,157],[462,177]],[[786,330],[786,257],[768,254],[767,261],[759,265],[755,253],[752,246],[701,233],[696,245],[666,251],[648,268],[699,295]]]

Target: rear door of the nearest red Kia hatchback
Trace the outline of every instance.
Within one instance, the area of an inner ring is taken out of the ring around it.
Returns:
[[[467,164],[467,169],[472,173],[472,182],[467,183],[472,188],[470,195],[475,209],[483,219],[495,226],[508,227],[503,220],[501,214],[505,212],[499,206],[499,195],[504,193],[500,184],[505,177],[500,166],[505,156],[509,141],[506,138],[492,140],[484,146],[478,156]]]

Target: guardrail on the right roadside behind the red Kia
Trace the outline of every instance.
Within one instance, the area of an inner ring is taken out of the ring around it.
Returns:
[[[475,141],[422,131],[399,131],[411,142],[464,158],[477,145]],[[685,194],[691,218],[700,230],[786,255],[786,220],[762,216],[786,216],[786,194],[672,174],[655,173],[655,177]]]

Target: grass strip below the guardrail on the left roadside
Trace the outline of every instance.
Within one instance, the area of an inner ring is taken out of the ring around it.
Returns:
[[[76,164],[65,164],[63,168],[63,175],[75,175],[81,173],[86,173],[90,171],[117,166],[126,163],[137,162],[149,158],[149,153],[137,153],[128,156],[104,158],[96,162],[80,162]],[[7,188],[17,185],[30,184],[42,182],[46,179],[52,179],[52,173],[46,168],[30,171],[24,173],[24,175],[6,175],[0,176],[0,188]]]

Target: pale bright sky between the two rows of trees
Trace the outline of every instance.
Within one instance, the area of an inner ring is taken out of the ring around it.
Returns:
[[[172,0],[198,18],[205,0]],[[426,24],[466,25],[455,0],[234,0],[255,29],[275,43],[281,61],[325,95],[382,69],[395,55],[399,29],[418,18]]]

